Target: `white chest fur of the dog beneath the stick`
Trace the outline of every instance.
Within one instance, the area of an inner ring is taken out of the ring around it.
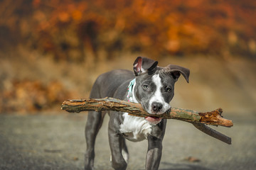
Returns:
[[[145,118],[136,117],[124,113],[124,122],[120,125],[120,132],[133,142],[145,140],[151,133],[151,125]]]

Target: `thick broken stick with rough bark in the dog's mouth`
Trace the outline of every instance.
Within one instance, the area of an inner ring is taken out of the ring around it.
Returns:
[[[221,125],[225,127],[233,126],[231,120],[227,120],[221,116],[222,109],[218,108],[215,111],[207,113],[198,113],[183,108],[171,107],[170,111],[161,115],[152,115],[144,111],[139,103],[121,101],[117,98],[85,98],[78,100],[64,101],[62,110],[68,112],[80,113],[81,111],[120,111],[127,112],[129,115],[140,117],[158,117],[165,119],[183,120],[192,123],[198,130],[205,132],[207,135],[215,137],[227,144],[231,144],[231,138],[221,134],[220,132],[209,128],[208,125]]]

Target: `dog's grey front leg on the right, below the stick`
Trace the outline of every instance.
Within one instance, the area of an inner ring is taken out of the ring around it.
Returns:
[[[159,168],[162,152],[162,139],[148,136],[149,147],[146,153],[146,170]]]

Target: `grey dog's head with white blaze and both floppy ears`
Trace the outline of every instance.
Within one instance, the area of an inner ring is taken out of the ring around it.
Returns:
[[[190,73],[189,69],[177,65],[158,67],[157,64],[158,62],[146,57],[137,57],[134,62],[134,97],[150,114],[163,114],[171,108],[169,103],[174,97],[175,82],[181,74],[188,82]],[[148,119],[153,124],[161,120]]]

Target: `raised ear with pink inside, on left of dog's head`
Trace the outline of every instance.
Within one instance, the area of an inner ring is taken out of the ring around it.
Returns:
[[[137,57],[134,61],[134,75],[139,76],[142,73],[154,74],[156,72],[158,62],[146,57]]]

